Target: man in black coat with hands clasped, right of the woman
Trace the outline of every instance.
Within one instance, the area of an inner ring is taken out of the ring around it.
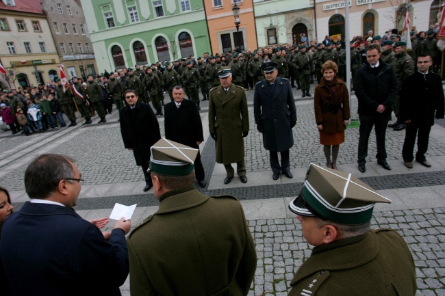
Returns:
[[[368,141],[375,125],[377,140],[377,163],[385,170],[391,170],[386,162],[385,136],[387,122],[391,116],[391,106],[397,94],[397,81],[394,69],[380,59],[380,47],[371,44],[366,49],[366,64],[357,70],[354,88],[359,100],[359,171],[366,172]]]

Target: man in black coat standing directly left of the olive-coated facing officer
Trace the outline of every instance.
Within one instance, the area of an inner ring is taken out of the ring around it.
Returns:
[[[199,144],[204,141],[203,123],[198,106],[193,100],[184,100],[185,92],[181,86],[173,88],[173,102],[164,106],[165,137],[180,144],[198,149],[194,160],[194,172],[199,186],[205,187],[205,173]]]

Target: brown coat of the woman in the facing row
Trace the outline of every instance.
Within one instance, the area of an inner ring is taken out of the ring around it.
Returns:
[[[325,112],[323,113],[322,107],[329,107],[329,88],[323,83],[324,79],[321,79],[319,85],[315,88],[314,94],[314,111],[315,111],[315,121],[317,124],[322,122],[323,129],[322,133],[338,133],[344,131],[346,126],[343,124],[343,120],[348,120],[350,118],[349,113],[349,94],[346,84],[342,79],[335,77],[338,83],[337,96],[340,98],[341,105],[343,107],[342,111],[337,113]]]

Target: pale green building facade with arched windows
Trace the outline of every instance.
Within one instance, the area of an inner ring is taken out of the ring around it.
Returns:
[[[99,71],[210,50],[201,0],[81,0]]]

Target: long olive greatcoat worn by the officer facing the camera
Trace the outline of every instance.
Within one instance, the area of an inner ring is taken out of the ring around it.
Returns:
[[[210,90],[209,131],[218,136],[217,163],[238,163],[244,159],[242,132],[249,131],[249,112],[244,88],[231,83],[227,94],[222,85]]]

